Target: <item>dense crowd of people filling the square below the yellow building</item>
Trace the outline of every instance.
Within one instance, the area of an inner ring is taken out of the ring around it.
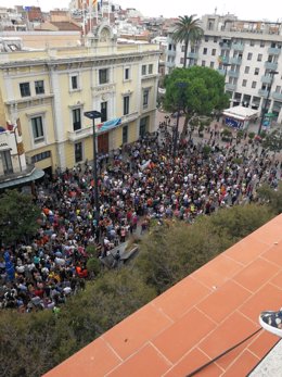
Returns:
[[[247,138],[222,143],[216,126],[204,138],[192,134],[177,151],[170,133],[154,136],[98,159],[98,183],[87,162],[56,172],[37,187],[39,229],[30,244],[3,246],[0,307],[56,311],[88,278],[87,248],[99,259],[152,219],[192,223],[219,208],[256,200],[256,188],[275,188],[280,162]],[[176,152],[176,153],[175,153]],[[94,185],[99,187],[99,214]],[[10,273],[7,266],[11,266]]]

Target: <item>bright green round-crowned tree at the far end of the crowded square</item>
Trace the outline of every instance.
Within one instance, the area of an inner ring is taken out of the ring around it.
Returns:
[[[229,105],[225,93],[225,78],[217,71],[204,66],[175,68],[166,79],[164,106],[175,112],[182,109],[185,121],[183,135],[191,120],[209,116],[216,109],[221,111]]]

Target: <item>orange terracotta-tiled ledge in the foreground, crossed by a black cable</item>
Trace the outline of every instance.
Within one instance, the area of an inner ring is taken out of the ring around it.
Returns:
[[[47,373],[183,377],[259,329],[282,301],[282,215]],[[278,338],[259,331],[198,376],[245,376]]]

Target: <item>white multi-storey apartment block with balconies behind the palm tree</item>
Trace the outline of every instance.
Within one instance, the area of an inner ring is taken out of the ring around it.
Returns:
[[[282,24],[240,21],[234,15],[202,17],[203,39],[189,47],[189,65],[218,70],[226,76],[230,105],[267,111],[282,122]],[[184,48],[168,37],[166,73],[183,65]]]

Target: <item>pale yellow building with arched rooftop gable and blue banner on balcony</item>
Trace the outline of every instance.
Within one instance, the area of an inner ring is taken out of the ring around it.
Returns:
[[[99,152],[154,130],[158,59],[156,45],[118,45],[107,23],[84,47],[2,52],[0,124],[20,120],[28,161],[49,173],[92,160],[86,111],[101,112]]]

